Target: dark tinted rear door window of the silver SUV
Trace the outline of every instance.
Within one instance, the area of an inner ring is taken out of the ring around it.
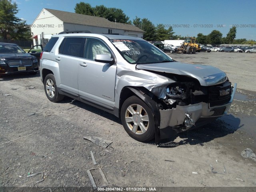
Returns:
[[[59,53],[74,57],[83,57],[85,38],[67,37],[62,41]]]

